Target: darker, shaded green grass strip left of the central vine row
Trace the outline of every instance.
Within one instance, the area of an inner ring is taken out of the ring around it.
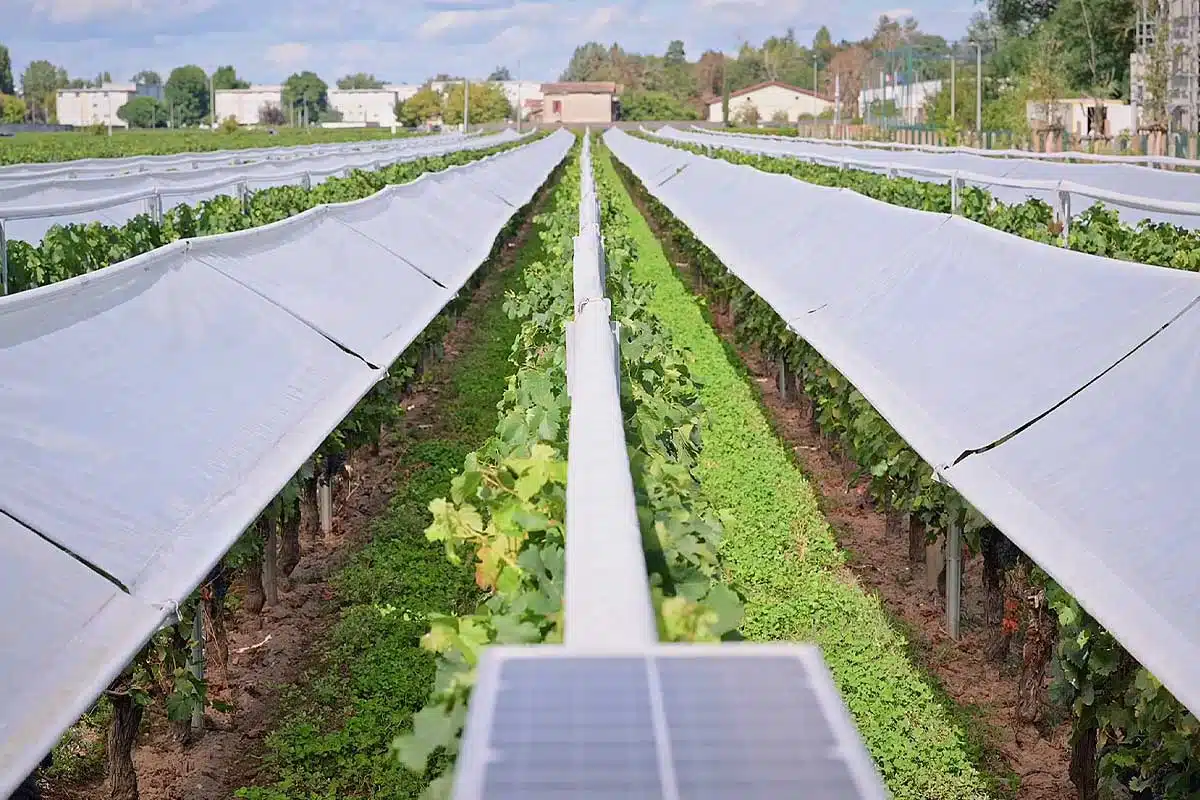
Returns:
[[[266,739],[268,787],[241,789],[250,800],[416,798],[427,780],[406,770],[392,740],[412,728],[433,688],[434,654],[420,646],[430,614],[468,613],[479,600],[473,567],[455,566],[425,537],[430,503],[446,494],[463,458],[496,425],[496,405],[511,365],[520,321],[504,313],[504,289],[542,258],[534,235],[475,317],[460,357],[434,368],[445,378],[428,429],[410,428],[396,475],[397,492],[374,523],[371,543],[334,578],[342,603],[319,664],[286,699]]]

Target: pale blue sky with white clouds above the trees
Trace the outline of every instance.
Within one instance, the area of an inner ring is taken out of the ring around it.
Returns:
[[[788,25],[802,41],[822,24],[835,40],[859,38],[881,13],[950,37],[976,10],[973,0],[0,0],[0,41],[18,79],[49,59],[73,77],[107,70],[119,80],[191,62],[233,64],[253,83],[298,70],[406,83],[485,77],[502,64],[516,74],[518,61],[523,78],[553,80],[588,40],[661,53],[682,38],[695,56]]]

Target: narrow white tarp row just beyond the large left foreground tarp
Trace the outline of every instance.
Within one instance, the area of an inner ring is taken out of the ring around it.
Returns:
[[[493,148],[517,139],[505,130],[486,137],[424,140],[404,139],[404,146],[382,152],[314,154],[288,161],[221,164],[178,172],[142,172],[107,178],[54,178],[0,185],[0,224],[10,241],[37,243],[54,225],[101,222],[122,225],[149,211],[157,194],[162,209],[194,205],[218,194],[233,196],[238,185],[248,191],[300,184],[316,186],[331,175],[440,156],[458,150]]]

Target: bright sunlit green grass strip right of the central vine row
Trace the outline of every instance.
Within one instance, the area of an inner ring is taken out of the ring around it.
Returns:
[[[604,169],[614,166],[598,149]],[[751,640],[818,644],[858,729],[898,800],[986,798],[962,730],[906,654],[876,597],[850,578],[812,487],[775,435],[745,368],[679,279],[625,193],[640,258],[635,281],[654,287],[650,312],[695,355],[708,409],[701,485],[724,512],[721,555],[746,597]]]

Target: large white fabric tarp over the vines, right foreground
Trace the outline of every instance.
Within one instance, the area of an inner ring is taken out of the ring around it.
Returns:
[[[1200,427],[1192,413],[1158,413],[1200,405],[1182,351],[1200,276],[619,132],[606,140],[925,461],[1200,708],[1200,618],[1182,589],[1200,566],[1183,534],[1200,501],[1180,461],[1200,450]],[[902,248],[876,237],[905,229]],[[1165,378],[1172,363],[1183,377]]]

